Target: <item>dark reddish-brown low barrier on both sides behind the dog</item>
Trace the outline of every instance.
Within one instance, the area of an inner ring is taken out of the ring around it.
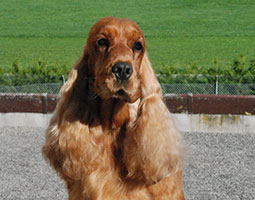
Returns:
[[[52,113],[56,94],[0,93],[0,113]],[[255,96],[166,94],[165,103],[171,113],[254,115]]]

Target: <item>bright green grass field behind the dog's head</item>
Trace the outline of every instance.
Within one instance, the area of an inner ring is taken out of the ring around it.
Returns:
[[[101,17],[133,19],[144,31],[151,62],[228,67],[255,58],[253,0],[8,0],[0,2],[0,67],[38,58],[72,66]]]

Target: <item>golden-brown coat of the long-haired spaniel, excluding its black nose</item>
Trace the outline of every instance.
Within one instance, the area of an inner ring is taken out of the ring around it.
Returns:
[[[113,72],[119,62],[132,66],[128,80]],[[184,199],[181,146],[142,31],[128,19],[99,20],[61,89],[43,146],[69,199]]]

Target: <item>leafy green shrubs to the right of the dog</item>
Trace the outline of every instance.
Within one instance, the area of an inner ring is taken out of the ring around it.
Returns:
[[[246,61],[244,56],[234,60],[230,66],[219,66],[215,59],[212,67],[203,68],[197,64],[181,68],[177,66],[161,66],[158,71],[160,83],[220,83],[254,84],[255,59]]]

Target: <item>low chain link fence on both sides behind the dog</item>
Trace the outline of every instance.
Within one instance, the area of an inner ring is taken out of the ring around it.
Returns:
[[[31,83],[24,85],[8,85],[0,82],[1,93],[49,93],[57,94],[64,83],[64,78],[60,78],[58,83]],[[168,77],[169,80],[171,77]],[[178,77],[180,78],[180,77]],[[158,76],[163,93],[175,94],[219,94],[219,95],[255,95],[255,84],[244,83],[225,83],[224,78],[217,77],[210,81],[210,83],[194,83],[194,80],[184,79],[185,83],[165,83],[162,77]],[[202,77],[203,78],[203,77]],[[1,79],[0,79],[1,80]],[[227,80],[227,79],[225,79]],[[171,81],[169,81],[171,82]],[[176,81],[180,82],[180,81]],[[229,81],[228,81],[229,82]]]

